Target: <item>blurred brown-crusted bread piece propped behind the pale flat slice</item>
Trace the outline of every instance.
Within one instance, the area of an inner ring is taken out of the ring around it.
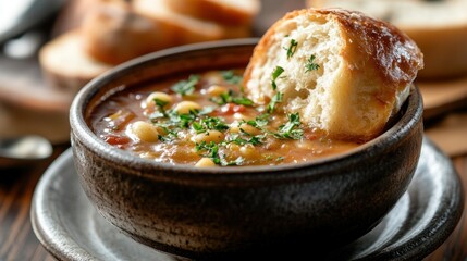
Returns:
[[[81,26],[85,51],[110,64],[174,45],[169,25],[135,14],[125,2],[110,1],[91,9]]]

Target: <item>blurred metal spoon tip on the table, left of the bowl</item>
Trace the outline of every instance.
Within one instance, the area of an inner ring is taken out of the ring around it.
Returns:
[[[26,166],[48,159],[52,151],[49,140],[36,135],[0,139],[0,165]]]

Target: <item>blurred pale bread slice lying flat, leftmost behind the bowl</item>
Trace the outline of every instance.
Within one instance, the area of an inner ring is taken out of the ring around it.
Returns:
[[[39,63],[50,86],[74,94],[112,67],[90,57],[84,50],[82,39],[79,30],[71,30],[40,49]]]

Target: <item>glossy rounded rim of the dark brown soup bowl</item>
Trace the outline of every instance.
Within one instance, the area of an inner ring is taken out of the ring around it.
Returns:
[[[152,160],[139,158],[130,151],[112,147],[106,141],[99,139],[85,121],[84,113],[86,112],[86,107],[89,104],[93,97],[102,86],[106,86],[114,77],[118,77],[118,75],[125,74],[135,70],[136,67],[144,66],[148,62],[161,58],[176,57],[183,53],[213,49],[241,47],[254,48],[257,42],[258,38],[244,38],[193,44],[152,52],[116,65],[115,67],[90,80],[74,97],[70,107],[69,117],[72,136],[74,135],[74,138],[78,139],[82,145],[91,150],[98,157],[107,161],[118,162],[120,167],[126,169],[132,173],[138,173],[138,175],[146,175],[147,173],[152,172],[149,176],[179,176],[189,179],[199,178],[202,176],[214,176],[216,178],[220,178],[221,176],[230,176],[229,179],[231,179],[232,176],[236,176],[243,179],[245,177],[263,176],[274,173],[274,175],[270,176],[283,178],[283,174],[286,174],[288,177],[294,178],[297,177],[296,175],[303,175],[303,173],[300,174],[298,170],[307,169],[307,175],[310,173],[320,173],[322,171],[319,170],[322,169],[328,170],[327,172],[330,170],[339,172],[339,170],[345,170],[348,166],[358,164],[358,162],[365,162],[376,154],[384,153],[384,151],[390,150],[393,146],[400,144],[407,137],[407,135],[410,134],[410,130],[416,127],[419,122],[421,122],[423,111],[422,98],[417,85],[414,83],[410,86],[410,95],[404,102],[404,105],[406,105],[405,113],[402,114],[398,121],[396,121],[390,128],[388,128],[378,137],[348,151],[303,163],[232,167],[195,167],[188,164],[156,162]],[[73,146],[74,144],[72,137],[72,147]],[[171,174],[163,174],[163,172],[160,170],[164,170]],[[296,175],[291,175],[292,171],[297,171],[295,172]]]

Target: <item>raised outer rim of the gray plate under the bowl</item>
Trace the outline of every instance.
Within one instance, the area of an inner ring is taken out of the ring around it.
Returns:
[[[377,254],[362,257],[361,259],[357,260],[421,259],[441,246],[456,227],[464,211],[464,189],[462,187],[459,176],[452,161],[426,136],[423,136],[422,150],[423,149],[432,150],[431,152],[433,152],[439,160],[443,161],[446,166],[446,170],[444,170],[446,173],[443,173],[443,178],[451,181],[452,186],[454,186],[454,189],[450,189],[451,194],[442,194],[442,198],[448,199],[448,202],[451,202],[450,207],[447,208],[448,211],[444,212],[444,219],[441,220],[442,223],[439,224],[438,227],[433,227],[431,231],[423,231],[420,233],[419,237],[421,238],[417,239],[416,236],[413,236],[410,240],[407,240],[405,245],[400,246],[398,248],[394,248],[391,251],[383,251]],[[64,166],[71,164],[70,161],[73,161],[72,148],[66,149],[59,158],[56,159],[56,161],[52,162],[52,164],[50,164],[36,186],[30,208],[33,231],[41,245],[58,260],[99,260],[67,235],[64,235],[64,237],[66,237],[65,239],[53,238],[53,235],[51,235],[53,232],[51,233],[50,229],[60,231],[60,226],[56,225],[53,228],[48,227],[47,224],[44,224],[44,222],[50,223],[50,220],[47,221],[47,219],[51,219],[44,212],[44,206],[40,206],[41,203],[44,204],[44,200],[47,198],[47,188],[50,187],[52,177],[58,175],[58,173]],[[438,210],[438,212],[440,211]],[[62,231],[63,229],[64,228],[62,228]],[[63,241],[66,244],[63,244]]]

